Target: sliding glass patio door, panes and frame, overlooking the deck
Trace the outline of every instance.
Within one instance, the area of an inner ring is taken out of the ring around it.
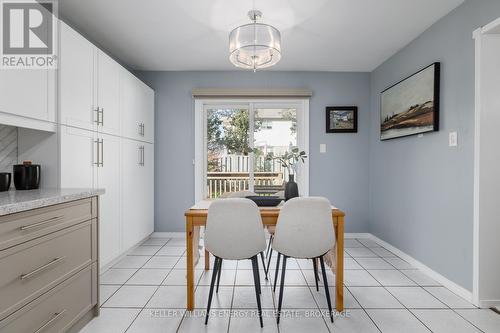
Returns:
[[[196,201],[227,192],[283,190],[289,171],[269,157],[294,147],[308,152],[308,106],[306,99],[196,100]],[[307,195],[308,160],[295,177]]]

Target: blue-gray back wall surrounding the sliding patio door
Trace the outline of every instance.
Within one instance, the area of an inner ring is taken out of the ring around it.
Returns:
[[[156,93],[155,230],[184,231],[193,204],[193,88],[306,88],[310,101],[310,194],[347,212],[346,230],[368,230],[368,73],[138,72]],[[357,105],[357,134],[326,134],[327,105]],[[319,153],[319,144],[327,153]]]

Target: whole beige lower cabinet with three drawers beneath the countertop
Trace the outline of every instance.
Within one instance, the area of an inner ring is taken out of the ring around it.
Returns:
[[[98,223],[97,197],[0,216],[0,333],[66,332],[98,314]]]

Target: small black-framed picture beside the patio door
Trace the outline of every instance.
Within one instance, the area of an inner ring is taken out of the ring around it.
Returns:
[[[357,106],[327,106],[326,133],[357,133]]]

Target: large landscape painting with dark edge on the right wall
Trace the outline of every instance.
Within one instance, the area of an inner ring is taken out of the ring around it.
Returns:
[[[380,140],[439,130],[439,76],[436,62],[382,91]]]

